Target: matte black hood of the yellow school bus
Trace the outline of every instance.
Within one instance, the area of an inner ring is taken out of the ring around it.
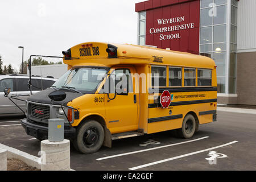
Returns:
[[[38,102],[42,104],[67,105],[68,102],[72,101],[73,99],[84,95],[83,93],[75,93],[66,89],[61,89],[61,90],[63,90],[67,94],[66,98],[63,101],[52,101],[48,97],[51,92],[55,91],[52,88],[47,88],[46,90],[32,94],[30,97],[27,98],[27,101]]]

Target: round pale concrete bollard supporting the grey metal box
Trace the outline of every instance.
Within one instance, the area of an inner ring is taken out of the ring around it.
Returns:
[[[41,142],[42,171],[70,171],[70,141]]]

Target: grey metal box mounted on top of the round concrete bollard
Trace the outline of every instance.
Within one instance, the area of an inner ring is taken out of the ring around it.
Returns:
[[[61,142],[64,140],[64,119],[48,119],[48,140]]]

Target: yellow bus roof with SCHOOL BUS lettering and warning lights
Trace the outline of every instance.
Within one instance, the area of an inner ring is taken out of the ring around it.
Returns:
[[[213,69],[215,66],[214,61],[206,56],[132,44],[87,42],[63,51],[63,54],[63,62],[71,67],[88,64],[106,67],[117,64],[158,64]]]

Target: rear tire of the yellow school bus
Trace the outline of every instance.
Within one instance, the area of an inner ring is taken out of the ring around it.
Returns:
[[[191,138],[196,131],[196,119],[191,114],[187,114],[183,119],[181,129],[177,130],[177,134],[181,138]]]

